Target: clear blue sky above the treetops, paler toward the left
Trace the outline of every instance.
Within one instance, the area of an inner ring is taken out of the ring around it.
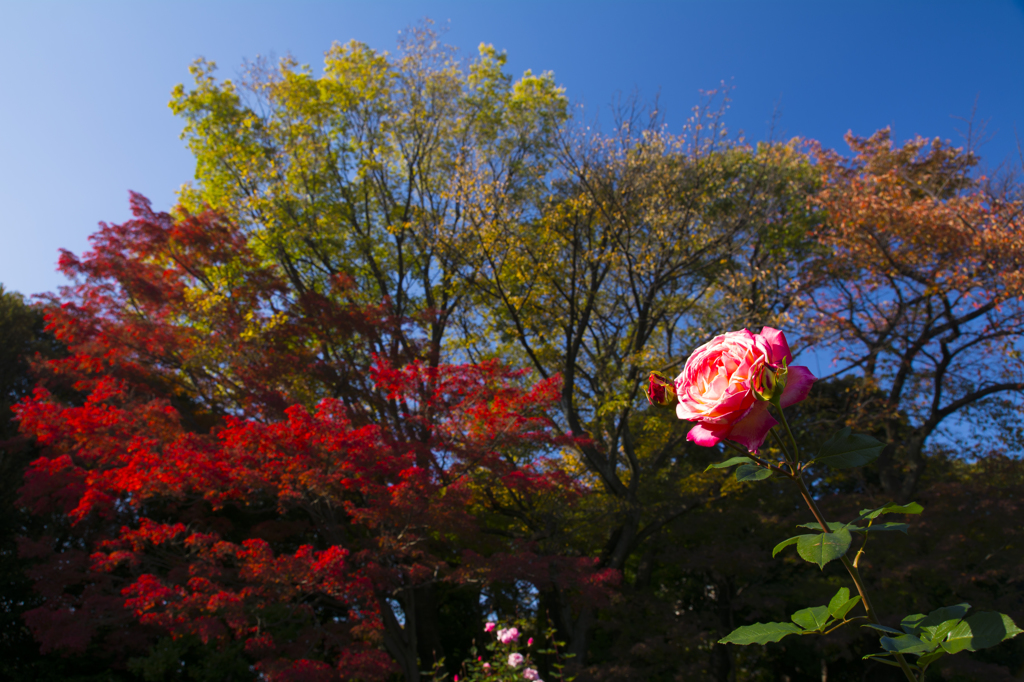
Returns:
[[[0,283],[63,284],[57,250],[82,252],[99,221],[129,217],[128,190],[169,209],[191,178],[167,106],[200,56],[232,77],[291,53],[314,70],[334,41],[393,50],[423,17],[472,55],[506,50],[514,75],[552,71],[588,115],[616,94],[660,93],[679,130],[700,90],[731,88],[726,124],[748,139],[892,126],[958,140],[976,108],[985,162],[1020,165],[1024,3],[1011,0],[477,0],[418,2],[29,2],[0,0]]]

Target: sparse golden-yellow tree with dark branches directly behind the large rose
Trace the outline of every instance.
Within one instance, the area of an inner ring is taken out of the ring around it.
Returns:
[[[591,489],[571,535],[628,572],[656,561],[663,530],[721,482],[696,475],[708,456],[684,446],[682,424],[639,406],[641,385],[720,326],[780,318],[793,292],[771,285],[804,257],[814,219],[814,172],[793,145],[725,141],[714,111],[684,135],[645,114],[624,110],[612,136],[563,129],[540,203],[505,202],[486,163],[470,164],[451,245],[477,311],[457,343],[562,377],[559,426],[580,443],[567,466]],[[543,603],[585,660],[597,610],[556,592]]]

